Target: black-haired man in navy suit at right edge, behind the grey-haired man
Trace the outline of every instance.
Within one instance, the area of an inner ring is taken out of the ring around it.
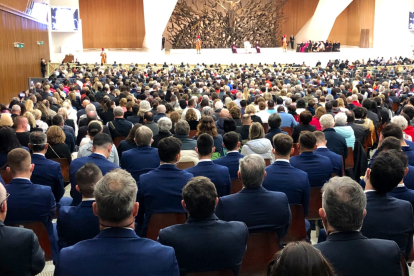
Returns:
[[[395,241],[408,258],[414,217],[410,202],[388,196],[404,178],[406,167],[396,150],[380,152],[365,175],[367,216],[361,232],[368,238]]]

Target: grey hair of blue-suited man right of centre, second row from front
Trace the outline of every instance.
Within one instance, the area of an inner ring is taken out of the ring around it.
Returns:
[[[246,188],[258,188],[262,186],[265,169],[266,163],[258,154],[246,155],[239,161],[241,181]]]

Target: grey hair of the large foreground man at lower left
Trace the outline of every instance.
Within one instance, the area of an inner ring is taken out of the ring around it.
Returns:
[[[98,217],[109,222],[122,222],[132,215],[137,198],[137,183],[125,170],[115,169],[96,183],[94,197]]]

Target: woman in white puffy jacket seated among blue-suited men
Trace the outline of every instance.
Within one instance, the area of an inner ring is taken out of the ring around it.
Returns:
[[[263,159],[270,159],[270,163],[273,163],[272,149],[272,143],[265,138],[263,126],[260,123],[252,123],[249,129],[249,141],[243,146],[241,154],[258,154]]]

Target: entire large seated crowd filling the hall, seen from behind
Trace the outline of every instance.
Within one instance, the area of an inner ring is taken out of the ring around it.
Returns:
[[[407,273],[413,63],[62,64],[0,105],[0,275]]]

